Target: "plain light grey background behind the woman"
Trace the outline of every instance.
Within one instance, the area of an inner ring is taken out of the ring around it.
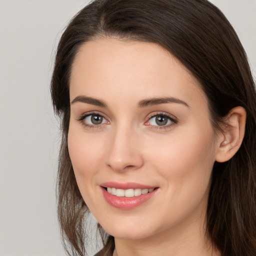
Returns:
[[[86,0],[0,0],[0,256],[58,256],[52,56]],[[256,0],[212,0],[256,70]],[[92,253],[92,252],[91,252]]]

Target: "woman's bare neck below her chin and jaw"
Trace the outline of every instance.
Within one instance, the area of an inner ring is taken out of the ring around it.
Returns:
[[[204,219],[185,221],[181,225],[155,232],[140,239],[115,238],[114,256],[220,256],[206,239]]]

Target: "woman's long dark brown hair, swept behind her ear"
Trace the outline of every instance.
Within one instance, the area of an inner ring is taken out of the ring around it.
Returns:
[[[222,256],[256,255],[256,99],[244,49],[223,13],[207,0],[94,0],[70,21],[58,43],[51,95],[61,118],[57,198],[63,243],[69,255],[85,255],[88,208],[77,187],[67,148],[69,76],[77,50],[99,37],[161,45],[198,79],[214,129],[235,106],[247,112],[245,136],[227,162],[215,162],[206,235]],[[99,225],[98,225],[99,226]],[[113,237],[99,226],[105,255]]]

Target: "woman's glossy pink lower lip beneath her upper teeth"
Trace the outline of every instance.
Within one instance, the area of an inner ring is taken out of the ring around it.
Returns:
[[[141,195],[132,196],[132,197],[125,197],[125,196],[116,196],[116,195],[110,194],[102,186],[100,188],[103,192],[103,196],[104,196],[105,200],[113,207],[119,208],[119,209],[135,208],[135,207],[139,206],[140,204],[142,204],[143,202],[149,200],[152,196],[154,196],[154,194],[158,190],[158,188],[155,188],[150,193],[141,194]]]

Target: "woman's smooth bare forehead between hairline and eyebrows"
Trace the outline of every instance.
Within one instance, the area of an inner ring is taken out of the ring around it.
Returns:
[[[158,44],[106,38],[82,44],[75,56],[70,99],[79,94],[109,99],[112,95],[115,100],[116,95],[120,100],[167,95],[207,101],[196,78]]]

